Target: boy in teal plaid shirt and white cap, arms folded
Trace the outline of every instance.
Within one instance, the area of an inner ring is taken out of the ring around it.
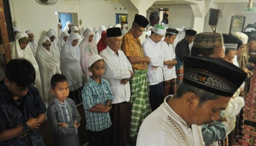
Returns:
[[[112,125],[109,111],[113,99],[110,85],[102,78],[105,68],[99,55],[89,58],[89,71],[93,74],[82,90],[89,146],[110,146]]]

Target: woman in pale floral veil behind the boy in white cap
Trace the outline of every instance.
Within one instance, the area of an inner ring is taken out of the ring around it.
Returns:
[[[86,83],[92,75],[88,69],[90,67],[88,62],[89,58],[93,54],[98,54],[98,50],[97,46],[93,42],[94,32],[92,30],[86,30],[83,35],[84,39],[82,43],[80,43],[79,48],[81,52],[80,64],[83,72],[83,83]]]

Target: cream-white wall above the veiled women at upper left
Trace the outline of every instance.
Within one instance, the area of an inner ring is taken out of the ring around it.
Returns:
[[[12,19],[14,20],[15,14],[19,31],[30,29],[37,40],[43,31],[48,31],[50,28],[57,30],[58,15],[54,12],[78,13],[78,19],[82,19],[82,26],[85,27],[101,25],[108,27],[109,24],[116,23],[116,13],[128,13],[121,4],[105,0],[80,0],[80,4],[78,0],[58,0],[53,6],[42,6],[35,0],[10,0],[10,7]]]

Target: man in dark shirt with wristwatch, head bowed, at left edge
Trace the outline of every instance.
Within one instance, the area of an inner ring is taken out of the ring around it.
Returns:
[[[12,59],[0,82],[1,146],[44,146],[39,131],[46,108],[34,87],[35,69],[26,59]]]

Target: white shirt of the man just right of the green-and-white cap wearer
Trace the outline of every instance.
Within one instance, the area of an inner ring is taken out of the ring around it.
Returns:
[[[163,58],[165,59],[165,61],[172,61],[176,58],[173,52],[173,48],[171,46],[172,45],[168,45],[165,41],[161,42],[162,54],[164,55]],[[177,78],[175,66],[173,66],[173,68],[171,69],[168,69],[167,65],[163,65],[163,78],[165,81]]]

